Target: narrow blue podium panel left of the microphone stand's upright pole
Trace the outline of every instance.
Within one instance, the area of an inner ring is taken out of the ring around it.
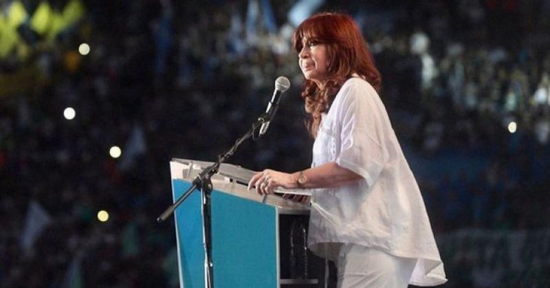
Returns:
[[[173,197],[177,200],[191,184],[173,180]],[[180,280],[185,288],[204,288],[204,248],[202,244],[201,193],[194,191],[175,211],[177,260]],[[183,288],[183,287],[181,287]]]

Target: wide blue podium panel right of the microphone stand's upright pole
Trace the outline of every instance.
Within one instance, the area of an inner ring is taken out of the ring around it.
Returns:
[[[212,192],[214,286],[277,287],[276,210]]]

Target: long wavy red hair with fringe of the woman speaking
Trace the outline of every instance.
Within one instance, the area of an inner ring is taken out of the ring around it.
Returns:
[[[382,77],[358,24],[347,14],[325,12],[309,17],[294,32],[296,53],[302,50],[304,39],[327,45],[327,82],[320,89],[315,82],[306,80],[302,91],[307,113],[305,125],[316,138],[321,114],[329,110],[336,94],[353,73],[369,82],[377,92],[380,92]]]

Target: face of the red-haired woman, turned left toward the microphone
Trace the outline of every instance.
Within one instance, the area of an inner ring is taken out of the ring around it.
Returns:
[[[317,86],[322,88],[328,77],[327,45],[303,38],[302,50],[298,53],[298,64],[305,79],[316,82]]]

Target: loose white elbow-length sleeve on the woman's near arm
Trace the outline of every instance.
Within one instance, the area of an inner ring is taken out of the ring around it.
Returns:
[[[349,81],[338,101],[341,146],[336,163],[358,173],[371,187],[388,161],[384,134],[391,126],[374,88],[364,80]]]

